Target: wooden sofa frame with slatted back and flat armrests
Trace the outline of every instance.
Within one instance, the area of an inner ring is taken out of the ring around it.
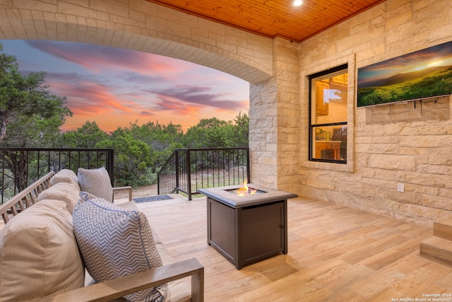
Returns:
[[[16,216],[20,214],[20,211],[25,211],[25,209],[37,203],[37,195],[49,187],[49,180],[54,174],[54,172],[47,173],[47,175],[44,175],[25,190],[9,199],[5,204],[2,204],[0,206],[0,215],[3,217],[4,223],[6,224],[10,221],[11,216]],[[123,188],[121,187],[121,189]],[[129,187],[125,187],[124,189],[129,190]],[[150,289],[157,285],[185,277],[191,277],[191,301],[204,301],[204,267],[196,258],[175,262],[170,265],[163,265],[162,267],[149,269],[145,272],[103,281],[79,289],[37,298],[32,301],[110,301],[114,298],[121,298],[136,291]]]

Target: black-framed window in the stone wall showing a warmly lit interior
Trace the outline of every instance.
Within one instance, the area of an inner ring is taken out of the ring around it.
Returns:
[[[309,160],[347,163],[347,65],[309,76]]]

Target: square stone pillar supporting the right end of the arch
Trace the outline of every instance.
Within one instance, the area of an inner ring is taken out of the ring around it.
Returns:
[[[298,183],[299,62],[296,45],[273,43],[273,78],[251,84],[251,181],[293,192]]]

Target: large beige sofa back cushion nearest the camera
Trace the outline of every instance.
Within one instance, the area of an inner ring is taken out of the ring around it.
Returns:
[[[0,231],[0,301],[27,301],[83,286],[85,267],[66,203],[45,199]]]

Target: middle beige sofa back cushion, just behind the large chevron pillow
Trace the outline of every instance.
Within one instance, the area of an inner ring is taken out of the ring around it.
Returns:
[[[76,206],[80,194],[77,184],[72,182],[57,182],[48,189],[37,195],[37,201],[44,199],[54,199],[66,202],[66,209],[72,214],[73,208]]]

